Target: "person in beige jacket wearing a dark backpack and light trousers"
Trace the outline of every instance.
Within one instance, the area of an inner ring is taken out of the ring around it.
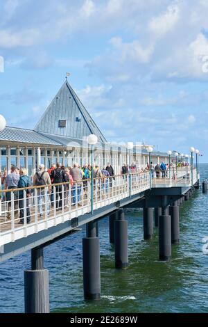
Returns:
[[[48,193],[45,194],[45,189],[43,186],[51,185],[51,178],[49,173],[45,170],[45,166],[42,164],[39,166],[37,172],[33,177],[33,185],[34,186],[42,186],[37,189],[37,208],[40,214],[40,217],[43,216],[42,209],[42,200],[46,200],[47,202],[47,213],[50,214],[50,204],[48,201]],[[51,192],[51,187],[49,186],[49,192]]]

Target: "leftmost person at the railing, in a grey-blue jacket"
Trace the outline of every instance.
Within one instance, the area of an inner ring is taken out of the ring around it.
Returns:
[[[18,182],[19,182],[19,174],[17,167],[12,166],[10,169],[10,174],[6,176],[6,179],[4,181],[4,189],[9,190],[9,189],[17,189],[18,187]],[[15,209],[15,218],[18,218],[18,192],[14,191],[14,209]],[[7,218],[11,218],[11,192],[8,191],[6,192],[6,201],[8,202],[8,212],[7,212]]]

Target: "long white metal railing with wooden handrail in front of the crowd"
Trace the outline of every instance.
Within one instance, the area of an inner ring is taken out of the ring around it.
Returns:
[[[0,191],[0,246],[149,189],[149,173]]]

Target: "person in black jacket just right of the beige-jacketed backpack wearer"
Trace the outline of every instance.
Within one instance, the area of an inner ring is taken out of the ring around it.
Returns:
[[[64,183],[64,170],[61,163],[56,163],[56,168],[52,171],[53,184]],[[55,185],[56,209],[62,209],[62,185]]]

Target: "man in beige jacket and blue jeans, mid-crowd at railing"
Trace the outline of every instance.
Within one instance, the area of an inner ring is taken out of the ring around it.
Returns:
[[[83,173],[80,168],[78,168],[78,163],[74,163],[73,168],[71,169],[71,176],[73,178],[73,186],[72,186],[72,205],[80,204],[80,193],[81,193],[81,186],[82,186],[82,178]],[[76,192],[77,189],[77,192]]]

